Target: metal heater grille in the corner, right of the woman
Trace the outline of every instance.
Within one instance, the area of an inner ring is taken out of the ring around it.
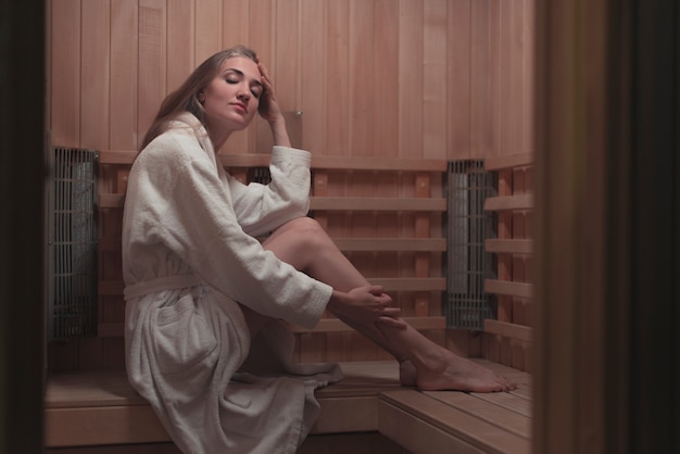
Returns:
[[[484,279],[494,277],[494,256],[484,240],[494,238],[495,216],[484,212],[484,200],[495,193],[493,174],[483,161],[452,161],[448,175],[446,325],[481,330],[484,318],[495,318],[495,300],[484,293]]]

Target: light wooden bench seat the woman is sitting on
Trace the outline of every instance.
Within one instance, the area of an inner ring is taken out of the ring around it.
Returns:
[[[399,384],[394,362],[341,363],[345,378],[316,392],[322,413],[312,436],[380,432],[413,453],[459,446],[467,450],[461,452],[528,454],[529,375],[476,361],[519,388],[494,394],[420,392]],[[54,453],[63,446],[169,442],[122,370],[50,374],[46,428],[46,444]]]

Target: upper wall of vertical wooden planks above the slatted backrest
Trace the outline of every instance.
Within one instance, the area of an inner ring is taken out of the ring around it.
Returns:
[[[52,142],[134,149],[204,58],[245,43],[319,154],[531,151],[533,0],[54,0]],[[306,116],[304,115],[306,113]],[[255,128],[228,151],[255,152]]]

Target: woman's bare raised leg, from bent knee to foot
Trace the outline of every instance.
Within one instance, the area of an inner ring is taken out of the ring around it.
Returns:
[[[338,250],[315,220],[303,217],[281,226],[263,243],[281,261],[337,290],[350,291],[369,282]],[[381,325],[377,336],[352,319],[342,321],[372,339],[400,362],[401,380],[424,390],[507,391],[515,384],[436,344],[413,327]]]

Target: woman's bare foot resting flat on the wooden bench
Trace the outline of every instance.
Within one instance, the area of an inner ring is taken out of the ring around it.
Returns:
[[[417,387],[423,391],[512,391],[517,384],[471,361],[446,355],[444,367],[417,370],[410,361],[399,364],[399,379],[404,387]]]

